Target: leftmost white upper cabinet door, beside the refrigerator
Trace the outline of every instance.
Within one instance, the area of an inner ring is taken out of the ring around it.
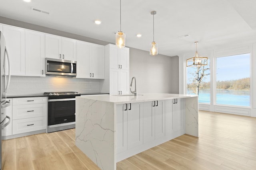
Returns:
[[[10,57],[11,75],[25,75],[25,29],[4,25],[3,33]]]

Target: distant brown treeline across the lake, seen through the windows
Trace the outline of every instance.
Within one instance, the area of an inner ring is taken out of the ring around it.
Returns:
[[[241,78],[238,80],[218,81],[216,83],[217,89],[228,90],[250,90],[250,78]],[[188,89],[193,89],[193,84],[188,84]],[[210,89],[210,82],[201,82],[201,89]]]

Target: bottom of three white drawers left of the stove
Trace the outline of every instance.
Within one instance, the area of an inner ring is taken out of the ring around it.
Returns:
[[[46,116],[12,120],[12,135],[46,129]]]

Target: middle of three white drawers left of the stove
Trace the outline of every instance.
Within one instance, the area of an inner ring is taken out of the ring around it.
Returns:
[[[12,119],[25,119],[46,116],[46,104],[28,104],[12,106]]]

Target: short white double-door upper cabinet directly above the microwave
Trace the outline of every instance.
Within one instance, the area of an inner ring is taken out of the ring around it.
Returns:
[[[76,61],[76,40],[45,34],[45,57]]]

